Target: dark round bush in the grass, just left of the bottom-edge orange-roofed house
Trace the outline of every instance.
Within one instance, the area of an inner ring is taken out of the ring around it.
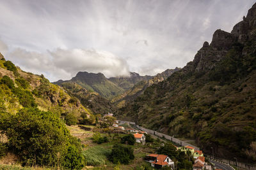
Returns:
[[[116,144],[112,148],[109,155],[109,160],[114,164],[129,164],[130,160],[134,159],[133,150],[131,147]]]

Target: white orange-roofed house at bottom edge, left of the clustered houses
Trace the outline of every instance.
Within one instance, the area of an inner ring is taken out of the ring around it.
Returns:
[[[174,169],[174,162],[167,155],[150,154],[145,157],[145,161],[150,162],[152,167],[160,169],[163,166],[170,166]]]

